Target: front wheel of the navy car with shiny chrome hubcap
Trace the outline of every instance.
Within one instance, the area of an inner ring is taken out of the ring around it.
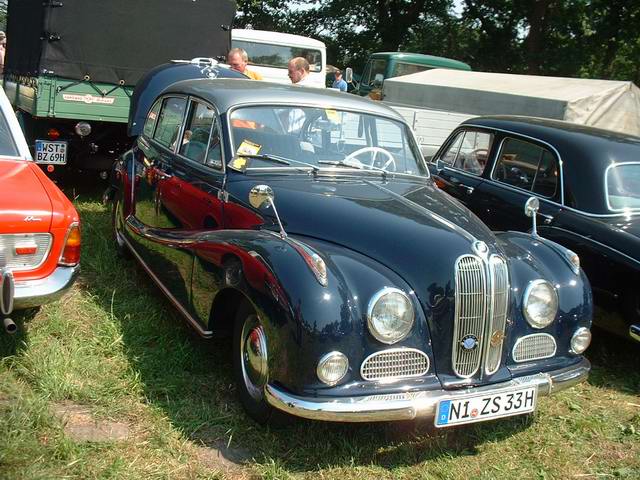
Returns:
[[[262,425],[282,426],[286,414],[274,409],[264,397],[269,380],[267,338],[260,319],[248,301],[242,302],[233,332],[233,375],[240,403]]]

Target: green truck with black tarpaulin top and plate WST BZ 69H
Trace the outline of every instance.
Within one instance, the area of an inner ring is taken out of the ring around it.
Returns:
[[[234,0],[9,0],[4,89],[34,160],[106,177],[133,88],[156,65],[222,57]]]

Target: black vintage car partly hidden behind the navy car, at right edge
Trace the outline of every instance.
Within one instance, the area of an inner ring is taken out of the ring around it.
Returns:
[[[432,162],[436,183],[492,230],[529,231],[521,211],[537,197],[539,234],[580,256],[596,303],[617,304],[623,333],[640,341],[640,138],[480,117],[454,130]]]

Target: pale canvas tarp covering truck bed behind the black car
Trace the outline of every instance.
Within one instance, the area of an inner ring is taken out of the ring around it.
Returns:
[[[640,136],[632,82],[433,69],[389,78],[383,94],[399,107],[553,118]]]

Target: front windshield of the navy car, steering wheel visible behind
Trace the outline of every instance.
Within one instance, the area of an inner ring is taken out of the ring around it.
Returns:
[[[393,119],[277,105],[233,110],[230,125],[234,156],[247,156],[249,168],[300,169],[303,162],[318,169],[428,175],[409,128]],[[274,165],[270,157],[291,165]]]

